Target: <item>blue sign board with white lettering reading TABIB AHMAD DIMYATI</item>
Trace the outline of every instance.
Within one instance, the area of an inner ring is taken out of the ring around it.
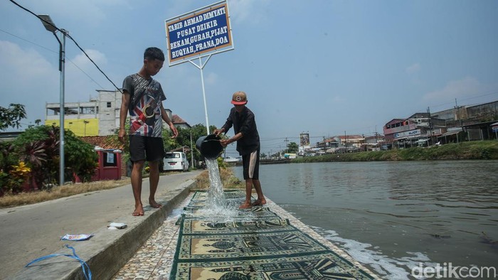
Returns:
[[[170,18],[165,23],[169,66],[233,50],[226,1]]]

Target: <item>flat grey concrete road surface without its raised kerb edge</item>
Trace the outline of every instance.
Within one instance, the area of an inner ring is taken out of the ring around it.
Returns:
[[[200,173],[191,171],[161,176],[157,197]],[[148,205],[148,198],[149,180],[145,178],[144,205]],[[147,209],[149,206],[144,208],[146,212]],[[56,252],[64,244],[60,241],[63,235],[92,234],[110,222],[120,222],[120,217],[131,216],[133,210],[131,185],[0,209],[0,279],[11,276],[33,259]]]

